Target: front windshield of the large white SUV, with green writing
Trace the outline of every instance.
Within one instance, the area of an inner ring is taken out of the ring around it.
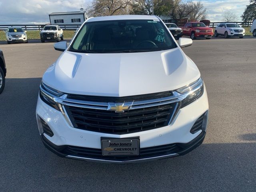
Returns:
[[[148,52],[175,48],[160,20],[87,22],[69,51],[85,53]]]

